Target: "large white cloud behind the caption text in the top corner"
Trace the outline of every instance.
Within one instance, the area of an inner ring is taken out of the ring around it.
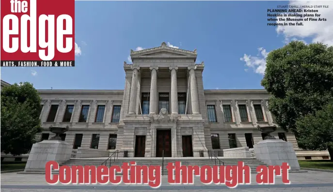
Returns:
[[[277,23],[296,23],[302,22],[303,26],[278,26],[276,32],[278,34],[283,34],[287,42],[293,39],[303,40],[304,38],[311,38],[312,43],[321,42],[323,44],[333,45],[333,1],[290,1],[289,5],[328,5],[329,8],[306,8],[306,9],[316,9],[317,13],[297,13],[302,15],[302,17],[290,17],[290,18],[309,18],[304,17],[303,14],[319,14],[320,16],[310,16],[313,18],[326,18],[326,21],[277,21]],[[304,9],[304,8],[302,8]],[[284,18],[286,17],[277,17]]]

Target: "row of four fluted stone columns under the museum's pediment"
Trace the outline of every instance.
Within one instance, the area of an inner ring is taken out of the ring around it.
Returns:
[[[140,67],[132,66],[132,83],[129,96],[128,114],[135,114],[136,100],[137,100],[137,86],[138,86],[138,72]],[[158,89],[157,89],[157,71],[159,67],[153,66],[149,68],[151,70],[151,83],[150,83],[150,103],[149,114],[156,115],[158,113]],[[177,70],[178,67],[169,67],[171,70],[171,114],[178,114],[178,91],[177,91]],[[198,101],[198,87],[195,78],[195,66],[188,67],[190,70],[190,94],[191,94],[191,106],[192,114],[199,115],[199,101]]]

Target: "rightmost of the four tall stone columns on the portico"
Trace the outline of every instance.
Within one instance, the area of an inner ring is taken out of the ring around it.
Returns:
[[[198,88],[197,88],[197,82],[195,79],[194,70],[196,69],[196,66],[188,67],[190,70],[190,89],[191,89],[191,105],[192,105],[192,114],[193,115],[199,115],[199,101],[198,101]]]

